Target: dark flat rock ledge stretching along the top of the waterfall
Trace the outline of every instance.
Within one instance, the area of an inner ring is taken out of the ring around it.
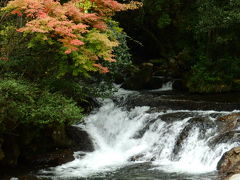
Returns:
[[[164,96],[163,96],[164,95]],[[136,106],[156,107],[160,110],[216,110],[233,111],[238,109],[240,101],[226,102],[227,95],[214,96],[210,99],[209,95],[181,94],[177,92],[140,92],[140,94],[128,96],[125,105],[132,108]],[[225,101],[221,98],[225,98]]]

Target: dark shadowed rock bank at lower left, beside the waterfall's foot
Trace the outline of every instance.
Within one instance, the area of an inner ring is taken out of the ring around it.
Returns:
[[[41,137],[35,137],[33,130],[25,129],[25,132],[21,133],[21,137],[8,135],[4,138],[8,141],[0,141],[0,179],[13,176],[37,179],[24,174],[70,162],[74,160],[74,151],[94,150],[89,135],[80,127],[49,129],[42,132]]]

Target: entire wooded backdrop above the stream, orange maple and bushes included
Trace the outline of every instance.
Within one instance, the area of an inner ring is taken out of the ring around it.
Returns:
[[[80,10],[76,1],[36,1],[47,13],[41,3],[12,2],[0,1],[2,165],[69,146],[66,127],[143,64],[185,91],[240,89],[238,0],[86,0]]]

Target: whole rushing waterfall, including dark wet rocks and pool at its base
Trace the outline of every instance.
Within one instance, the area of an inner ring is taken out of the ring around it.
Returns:
[[[74,161],[42,170],[39,176],[215,179],[223,153],[240,145],[238,128],[226,138],[217,119],[239,111],[128,105],[129,99],[141,96],[119,89],[113,99],[99,100],[101,107],[86,118],[85,125],[79,125],[91,136],[95,151],[75,152]]]

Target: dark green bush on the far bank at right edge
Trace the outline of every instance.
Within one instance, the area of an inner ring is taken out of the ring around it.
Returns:
[[[201,93],[237,90],[239,74],[239,59],[227,57],[214,61],[202,57],[192,67],[188,87],[191,92]]]

